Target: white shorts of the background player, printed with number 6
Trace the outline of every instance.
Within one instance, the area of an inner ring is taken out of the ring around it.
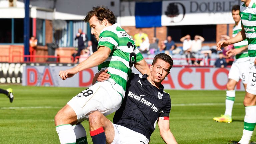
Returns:
[[[248,81],[248,75],[249,75],[249,60],[245,62],[233,62],[229,73],[228,73],[228,78],[233,79],[235,81],[239,81],[240,79],[242,80],[243,84],[247,84]]]

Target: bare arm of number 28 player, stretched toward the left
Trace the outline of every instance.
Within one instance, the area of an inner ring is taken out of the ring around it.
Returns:
[[[86,60],[84,60],[77,66],[65,71],[60,71],[59,76],[62,80],[65,80],[82,70],[98,66],[108,58],[110,53],[111,50],[109,48],[103,46],[99,47],[99,49],[96,52],[94,52],[90,57],[88,57]]]

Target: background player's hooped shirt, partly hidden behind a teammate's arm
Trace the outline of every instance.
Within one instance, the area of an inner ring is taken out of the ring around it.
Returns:
[[[241,30],[242,30],[241,21],[239,21],[238,25],[235,25],[233,27],[232,37],[235,37]],[[234,43],[234,48],[235,49],[236,48],[241,48],[241,47],[244,47],[244,46],[247,46],[247,45],[248,45],[248,41],[247,41],[247,39],[245,39],[241,42]],[[248,61],[248,60],[249,60],[248,50],[243,51],[242,53],[237,54],[235,56],[235,62],[244,62],[244,61]]]

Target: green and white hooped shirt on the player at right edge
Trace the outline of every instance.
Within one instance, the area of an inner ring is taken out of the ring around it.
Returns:
[[[256,0],[251,0],[248,7],[241,3],[240,17],[248,41],[250,63],[253,63],[256,58]]]

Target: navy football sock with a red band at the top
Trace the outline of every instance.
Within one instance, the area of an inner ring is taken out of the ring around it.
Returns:
[[[106,144],[106,135],[103,127],[90,131],[93,144]]]

